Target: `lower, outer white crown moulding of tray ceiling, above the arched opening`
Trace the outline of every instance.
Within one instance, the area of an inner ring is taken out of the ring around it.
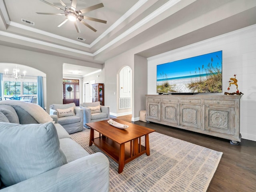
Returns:
[[[28,37],[24,37],[24,36],[20,36],[20,35],[8,33],[8,32],[4,32],[4,31],[0,31],[0,35],[11,37],[11,38],[16,38],[16,39],[24,40],[27,42],[36,43],[36,44],[41,44],[41,45],[45,45],[45,46],[49,46],[49,47],[53,47],[53,48],[58,48],[58,49],[66,50],[66,51],[71,51],[71,52],[75,52],[75,53],[79,53],[79,54],[83,54],[83,55],[93,56],[92,53],[88,53],[85,51],[80,51],[80,50],[76,50],[76,49],[40,41],[40,40],[36,40],[36,39],[32,39],[32,38],[28,38]]]

